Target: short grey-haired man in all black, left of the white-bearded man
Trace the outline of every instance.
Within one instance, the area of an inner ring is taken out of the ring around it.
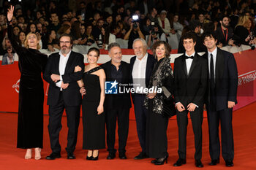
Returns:
[[[102,64],[106,74],[106,83],[112,82],[111,88],[121,85],[129,85],[129,63],[121,61],[121,48],[118,43],[108,45],[108,55],[111,60]],[[114,82],[113,82],[114,81]],[[118,84],[116,86],[116,84]],[[106,86],[105,86],[106,88]],[[116,90],[119,90],[118,88]],[[118,91],[116,94],[108,94],[105,91],[105,114],[107,127],[107,144],[109,155],[107,159],[116,157],[116,118],[118,118],[118,152],[119,158],[127,159],[125,147],[129,130],[129,109],[132,107],[131,97],[127,91]]]

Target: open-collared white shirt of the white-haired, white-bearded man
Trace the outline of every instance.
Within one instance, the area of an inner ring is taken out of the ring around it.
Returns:
[[[136,57],[135,63],[132,69],[132,80],[133,80],[133,87],[146,88],[146,65],[148,60],[148,53],[140,60]],[[138,92],[139,93],[139,92]]]

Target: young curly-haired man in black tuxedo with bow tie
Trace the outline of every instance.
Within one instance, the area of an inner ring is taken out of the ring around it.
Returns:
[[[202,123],[203,101],[207,88],[207,61],[195,52],[196,36],[192,32],[184,34],[181,41],[186,52],[174,61],[174,98],[177,107],[178,161],[173,166],[186,163],[187,114],[190,112],[195,134],[195,166],[203,167]]]

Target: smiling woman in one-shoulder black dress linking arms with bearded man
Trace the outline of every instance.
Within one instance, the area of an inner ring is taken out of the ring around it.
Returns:
[[[87,53],[83,80],[78,81],[83,94],[83,149],[88,150],[87,160],[98,160],[99,149],[105,148],[105,72],[97,64],[99,49],[91,47]],[[80,67],[75,68],[75,72]]]

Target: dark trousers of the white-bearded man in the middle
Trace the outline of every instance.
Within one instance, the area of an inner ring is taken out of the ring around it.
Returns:
[[[146,118],[147,110],[143,107],[145,96],[134,94],[134,108],[137,126],[137,134],[142,152],[146,152]]]

